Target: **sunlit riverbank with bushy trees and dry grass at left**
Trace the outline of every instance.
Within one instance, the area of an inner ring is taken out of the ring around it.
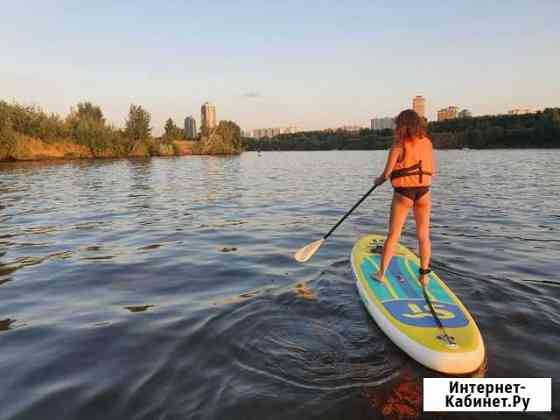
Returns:
[[[169,118],[160,137],[151,115],[131,105],[124,127],[108,123],[100,107],[81,102],[65,118],[35,106],[0,101],[0,161],[231,155],[243,151],[241,129],[222,120],[187,140]]]

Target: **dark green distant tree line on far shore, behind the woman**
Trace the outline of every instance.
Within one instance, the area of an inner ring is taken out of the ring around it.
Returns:
[[[560,108],[524,115],[487,115],[430,122],[437,148],[560,147]],[[248,150],[375,150],[394,141],[393,130],[328,130],[281,134],[272,139],[245,138]]]

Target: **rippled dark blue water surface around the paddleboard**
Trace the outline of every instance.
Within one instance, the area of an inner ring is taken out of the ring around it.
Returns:
[[[360,235],[385,233],[389,185],[308,263],[292,258],[385,156],[1,164],[0,418],[418,415],[438,375],[371,320],[349,261]],[[438,160],[433,268],[478,322],[477,375],[552,376],[559,416],[560,150]],[[414,235],[409,221],[416,249]]]

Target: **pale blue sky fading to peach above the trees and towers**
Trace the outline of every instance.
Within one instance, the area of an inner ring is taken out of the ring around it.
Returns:
[[[398,3],[398,5],[394,5]],[[427,116],[560,106],[560,1],[3,2],[0,100],[66,115],[130,104],[242,129],[369,126],[412,97]]]

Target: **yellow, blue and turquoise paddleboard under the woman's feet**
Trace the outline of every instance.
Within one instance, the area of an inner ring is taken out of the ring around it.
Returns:
[[[384,241],[384,236],[364,236],[354,245],[351,257],[358,291],[377,325],[405,353],[430,369],[447,374],[476,371],[484,361],[484,343],[476,323],[432,272],[426,292],[438,323],[418,281],[420,260],[412,251],[397,245],[386,281],[375,279]]]

